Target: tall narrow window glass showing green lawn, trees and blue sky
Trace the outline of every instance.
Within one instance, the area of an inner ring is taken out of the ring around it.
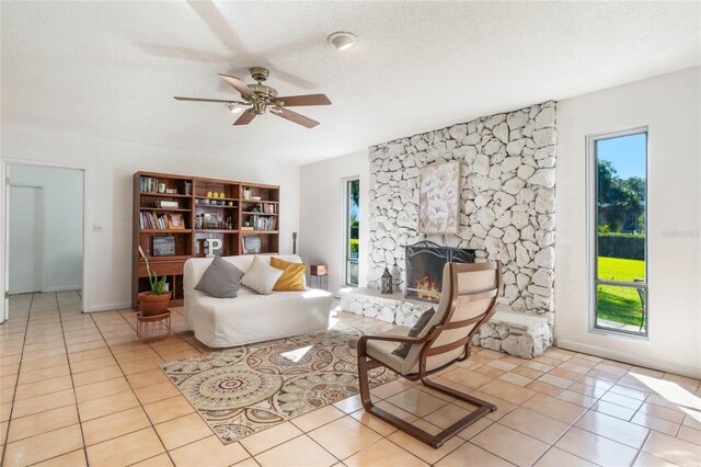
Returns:
[[[593,328],[647,335],[647,130],[588,139]]]

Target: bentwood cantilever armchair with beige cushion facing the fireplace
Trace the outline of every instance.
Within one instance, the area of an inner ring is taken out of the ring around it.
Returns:
[[[487,412],[496,410],[496,406],[435,383],[428,376],[470,357],[472,335],[494,314],[501,289],[501,263],[448,263],[443,272],[438,308],[416,337],[407,337],[405,328],[402,334],[388,332],[360,337],[356,345],[365,410],[435,448]],[[402,343],[409,346],[405,357],[393,353]],[[429,434],[372,403],[368,372],[379,366],[386,366],[410,380],[421,380],[432,389],[476,406],[476,410],[440,433]]]

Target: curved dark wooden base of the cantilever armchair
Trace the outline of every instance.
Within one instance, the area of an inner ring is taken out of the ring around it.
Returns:
[[[368,364],[367,357],[358,357],[358,379],[360,385],[360,400],[363,401],[363,407],[365,408],[365,410],[374,414],[378,419],[391,424],[392,426],[403,431],[404,433],[411,436],[414,436],[416,440],[423,443],[426,443],[436,449],[443,446],[444,443],[448,441],[451,436],[458,434],[459,432],[461,432],[467,426],[471,425],[472,423],[474,423],[475,421],[478,421],[489,412],[493,412],[496,410],[496,406],[490,402],[478,399],[464,392],[460,392],[447,386],[443,386],[437,383],[434,383],[429,380],[427,377],[423,377],[421,378],[421,380],[425,386],[436,389],[440,392],[447,394],[449,396],[456,397],[460,400],[463,400],[466,402],[469,402],[478,407],[478,409],[474,412],[471,412],[467,417],[463,417],[462,419],[458,420],[457,422],[455,422],[452,425],[448,426],[440,433],[433,435],[400,419],[399,417],[376,407],[372,403],[372,400],[370,399],[370,388],[368,384],[368,366],[369,364]]]

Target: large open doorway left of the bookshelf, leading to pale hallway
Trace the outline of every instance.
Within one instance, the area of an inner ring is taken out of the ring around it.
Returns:
[[[10,301],[81,297],[83,288],[83,170],[25,163],[4,169],[7,294],[0,321],[11,317]]]

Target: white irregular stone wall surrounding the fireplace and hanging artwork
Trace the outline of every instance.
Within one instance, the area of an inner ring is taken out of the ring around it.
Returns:
[[[504,263],[503,305],[552,323],[556,143],[550,101],[370,147],[368,286],[386,265],[404,270],[406,244],[471,248],[478,261]],[[418,169],[452,160],[458,235],[418,234]]]

